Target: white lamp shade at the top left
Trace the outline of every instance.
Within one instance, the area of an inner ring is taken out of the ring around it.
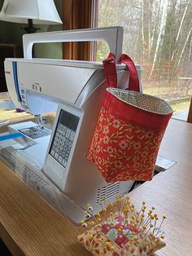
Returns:
[[[15,23],[62,24],[53,0],[5,0],[0,20]]]

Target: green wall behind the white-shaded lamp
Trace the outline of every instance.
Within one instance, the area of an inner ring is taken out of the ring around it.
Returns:
[[[55,6],[62,19],[62,1],[55,0]],[[2,8],[3,0],[0,0],[0,8]],[[26,24],[14,24],[11,22],[0,21],[0,43],[15,43],[22,46],[22,36],[25,33]],[[40,30],[37,33],[62,30],[61,25],[36,25]],[[35,45],[36,58],[63,59],[62,43],[46,43]]]

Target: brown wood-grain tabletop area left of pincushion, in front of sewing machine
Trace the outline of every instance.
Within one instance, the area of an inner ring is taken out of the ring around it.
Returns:
[[[25,255],[87,255],[76,241],[82,230],[72,227],[3,163],[0,175],[0,221],[12,237],[7,247],[14,255],[13,241]]]

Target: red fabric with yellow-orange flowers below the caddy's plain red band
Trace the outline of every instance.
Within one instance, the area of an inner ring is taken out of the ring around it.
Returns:
[[[107,183],[151,180],[164,130],[146,130],[113,117],[101,108],[88,160]]]

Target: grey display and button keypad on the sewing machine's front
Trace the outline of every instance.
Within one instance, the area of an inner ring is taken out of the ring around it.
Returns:
[[[61,110],[49,153],[63,167],[67,165],[78,122],[79,117]]]

